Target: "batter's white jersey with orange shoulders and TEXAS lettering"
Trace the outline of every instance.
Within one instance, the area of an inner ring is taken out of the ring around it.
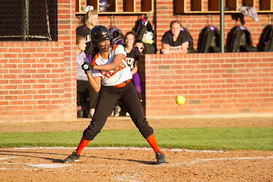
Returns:
[[[122,45],[113,46],[113,49],[109,51],[109,59],[103,59],[99,53],[96,54],[91,64],[94,66],[109,64],[113,62],[114,56],[117,54],[123,54],[123,59],[117,69],[111,71],[97,69],[90,70],[93,77],[102,77],[101,80],[104,86],[118,85],[128,79],[132,79],[132,73],[125,60],[126,52]]]

